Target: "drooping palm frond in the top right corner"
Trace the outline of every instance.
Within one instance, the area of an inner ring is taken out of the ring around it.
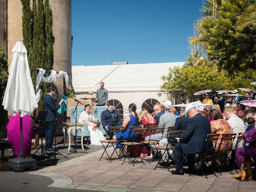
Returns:
[[[238,19],[236,26],[246,27],[256,22],[256,3],[250,5]]]

